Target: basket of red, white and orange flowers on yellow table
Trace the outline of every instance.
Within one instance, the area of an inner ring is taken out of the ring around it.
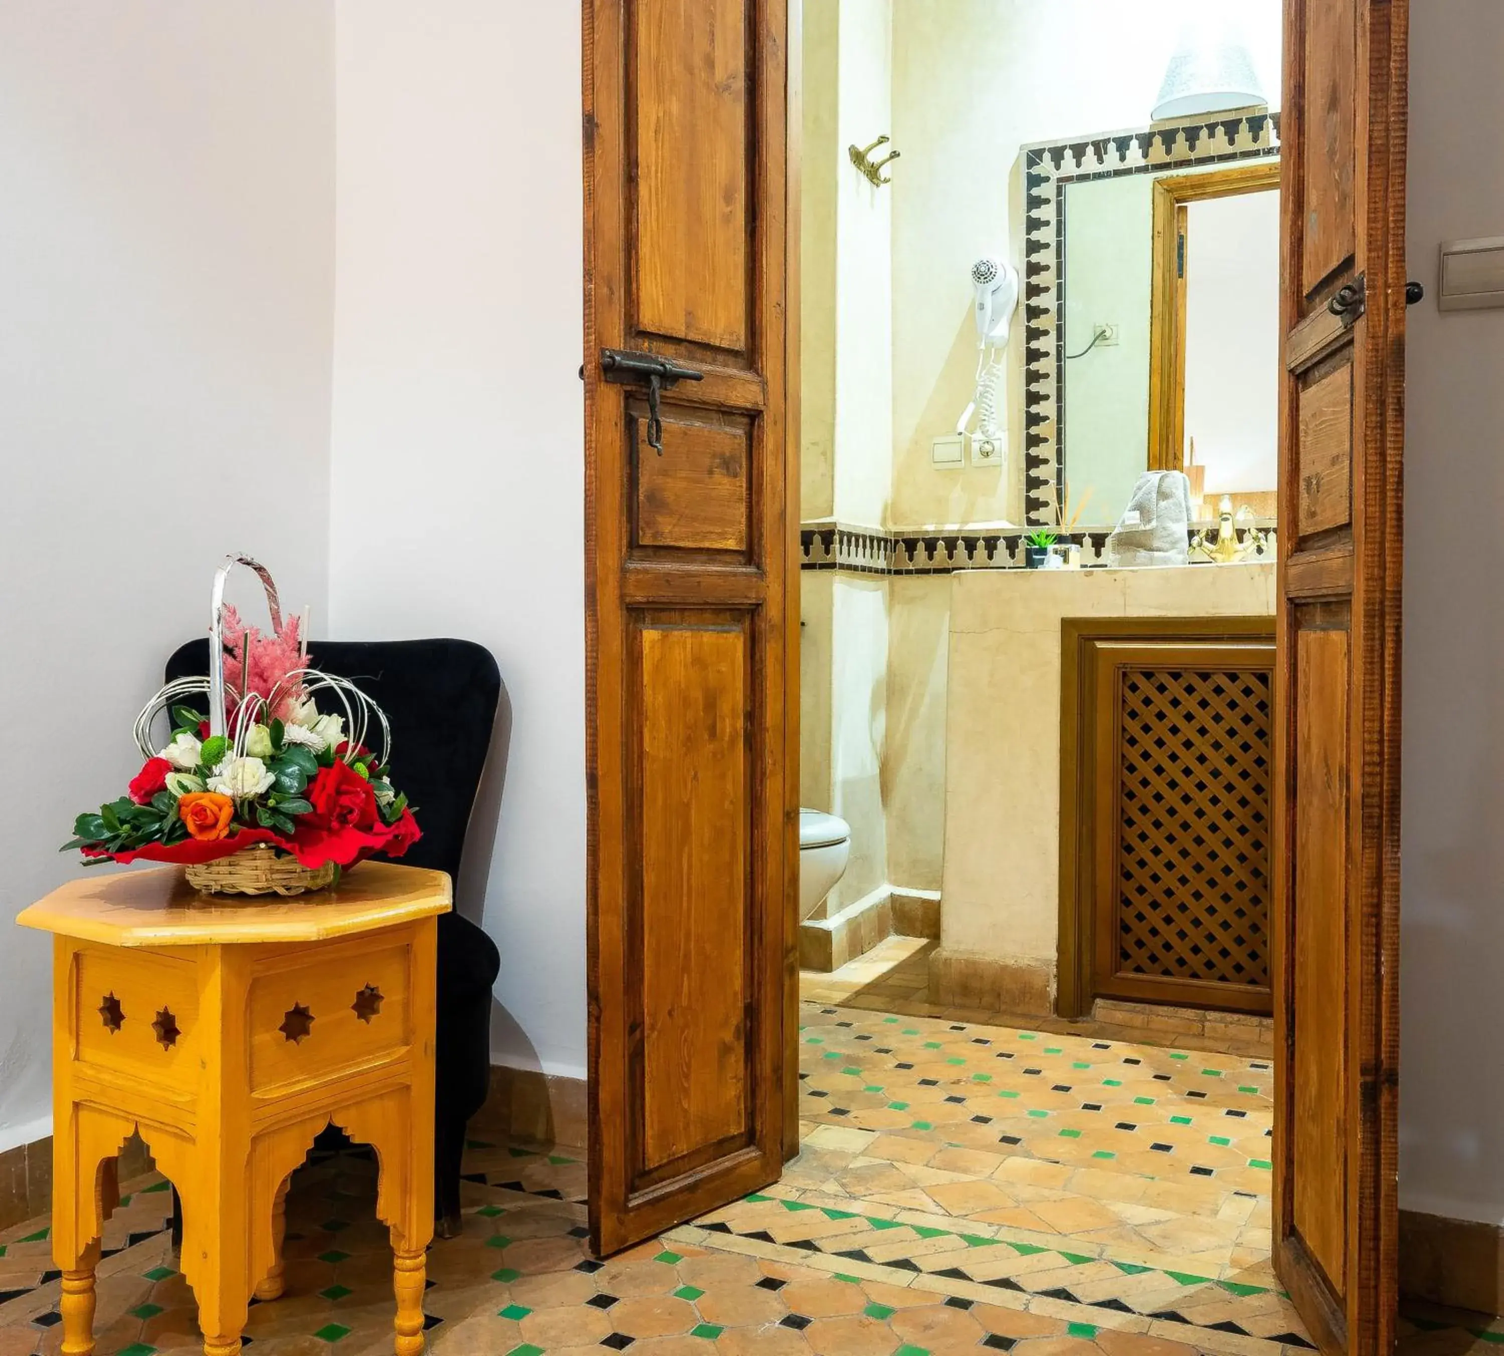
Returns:
[[[260,576],[271,635],[224,604],[236,564]],[[209,676],[167,683],[143,707],[144,766],[125,796],[78,816],[63,850],[177,862],[206,894],[250,895],[320,889],[374,852],[402,856],[420,831],[388,775],[387,716],[347,679],[308,667],[304,631],[283,620],[263,566],[229,557],[214,579]],[[158,745],[164,713],[171,739]]]

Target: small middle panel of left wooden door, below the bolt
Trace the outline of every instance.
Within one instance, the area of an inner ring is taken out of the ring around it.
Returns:
[[[633,548],[726,551],[752,540],[752,421],[663,403],[663,451],[647,445],[645,402],[629,405],[636,445]]]

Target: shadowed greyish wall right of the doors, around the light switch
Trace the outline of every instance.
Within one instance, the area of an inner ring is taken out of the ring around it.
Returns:
[[[1441,315],[1436,247],[1504,232],[1504,6],[1412,11],[1400,1204],[1504,1222],[1504,312]]]

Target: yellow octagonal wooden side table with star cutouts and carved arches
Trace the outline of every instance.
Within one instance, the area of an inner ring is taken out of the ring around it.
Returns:
[[[53,951],[53,1257],[63,1356],[93,1351],[95,1266],[140,1132],[182,1199],[205,1356],[281,1294],[283,1198],[325,1126],[370,1144],[399,1356],[423,1350],[433,1237],[438,915],[450,877],[365,862],[338,888],[214,901],[176,867],[69,882],[18,923]]]

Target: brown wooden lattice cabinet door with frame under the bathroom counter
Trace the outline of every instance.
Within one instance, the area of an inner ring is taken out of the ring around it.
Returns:
[[[1066,649],[1062,1011],[1266,1014],[1272,623],[1096,623]]]

